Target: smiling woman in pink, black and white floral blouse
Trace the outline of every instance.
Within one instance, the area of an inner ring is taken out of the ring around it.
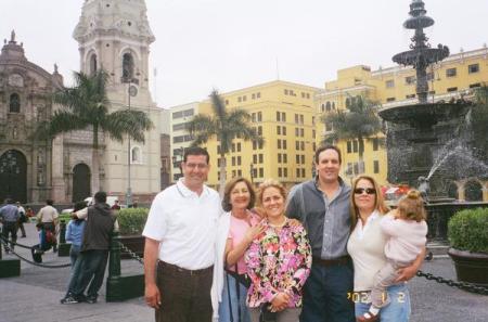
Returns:
[[[253,322],[259,321],[260,307],[277,312],[277,321],[298,321],[301,288],[311,266],[311,249],[300,223],[291,224],[284,216],[286,191],[281,183],[267,180],[259,185],[258,203],[265,215],[265,231],[251,244],[245,260],[252,285],[247,293]]]

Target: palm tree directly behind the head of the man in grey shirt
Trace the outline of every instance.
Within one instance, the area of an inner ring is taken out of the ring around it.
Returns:
[[[358,95],[346,101],[347,110],[336,110],[321,118],[322,123],[332,126],[333,129],[331,134],[325,136],[324,142],[358,140],[360,172],[363,171],[364,139],[369,139],[382,129],[375,106],[377,104],[373,101]]]

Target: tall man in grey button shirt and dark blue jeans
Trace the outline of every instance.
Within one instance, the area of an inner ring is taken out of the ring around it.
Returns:
[[[321,146],[314,155],[317,177],[296,185],[286,215],[300,220],[312,247],[312,268],[304,287],[300,322],[355,322],[354,270],[347,254],[350,186],[338,177],[341,151]]]

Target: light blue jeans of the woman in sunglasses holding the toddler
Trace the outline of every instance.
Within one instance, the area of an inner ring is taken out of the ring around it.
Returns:
[[[410,318],[410,294],[404,283],[391,285],[387,289],[390,302],[380,311],[381,322],[408,322]],[[356,302],[356,317],[368,312],[370,302]]]

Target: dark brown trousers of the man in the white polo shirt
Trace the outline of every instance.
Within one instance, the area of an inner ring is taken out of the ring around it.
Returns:
[[[211,322],[213,267],[190,271],[159,261],[157,287],[162,305],[156,322]]]

